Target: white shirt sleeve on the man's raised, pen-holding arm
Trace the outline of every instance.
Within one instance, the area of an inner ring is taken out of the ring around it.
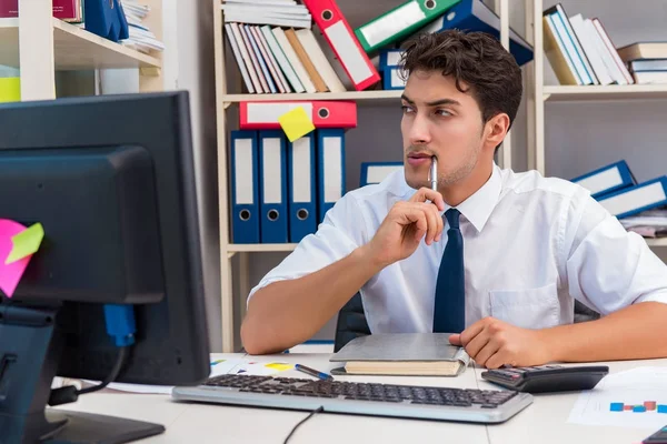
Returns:
[[[354,193],[342,196],[327,212],[317,232],[303,238],[293,252],[260,280],[247,302],[270,283],[301,278],[349,255],[369,240],[365,221]]]

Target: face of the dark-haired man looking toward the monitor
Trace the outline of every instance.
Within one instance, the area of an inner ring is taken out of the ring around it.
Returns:
[[[414,71],[401,102],[406,182],[414,189],[430,188],[432,155],[438,159],[438,186],[468,176],[482,145],[481,111],[475,99],[439,71]]]

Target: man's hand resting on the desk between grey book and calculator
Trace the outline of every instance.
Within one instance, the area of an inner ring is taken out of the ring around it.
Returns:
[[[487,369],[498,369],[505,364],[532,366],[550,361],[539,330],[520,329],[494,317],[485,317],[460,334],[452,334],[449,342],[462,345],[475,362]]]

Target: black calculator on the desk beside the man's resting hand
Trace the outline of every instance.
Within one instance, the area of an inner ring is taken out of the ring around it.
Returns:
[[[487,370],[481,377],[517,392],[546,393],[590,390],[608,373],[607,365],[540,365]]]

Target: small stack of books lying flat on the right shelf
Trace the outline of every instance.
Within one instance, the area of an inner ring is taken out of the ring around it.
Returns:
[[[667,42],[636,42],[618,48],[636,83],[667,83]]]

